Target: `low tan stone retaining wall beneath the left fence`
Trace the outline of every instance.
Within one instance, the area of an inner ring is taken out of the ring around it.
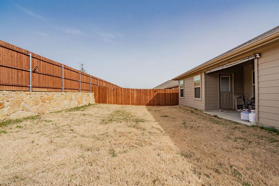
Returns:
[[[0,91],[0,121],[95,104],[94,93]]]

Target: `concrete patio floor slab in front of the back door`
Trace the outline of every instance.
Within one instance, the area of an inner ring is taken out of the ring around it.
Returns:
[[[251,122],[243,121],[240,118],[240,112],[226,113],[226,112],[221,112],[220,110],[208,110],[208,111],[205,111],[204,113],[207,113],[207,114],[210,114],[210,115],[216,115],[218,117],[228,119],[228,120],[231,120],[231,121],[234,121],[234,122],[242,123],[242,124],[245,124],[245,125],[251,125]]]

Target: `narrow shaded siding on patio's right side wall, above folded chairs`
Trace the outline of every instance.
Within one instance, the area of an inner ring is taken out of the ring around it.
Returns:
[[[247,93],[247,100],[251,100],[253,95],[253,82],[252,82],[252,71],[254,70],[254,64],[249,64],[243,67],[244,70],[244,96]]]

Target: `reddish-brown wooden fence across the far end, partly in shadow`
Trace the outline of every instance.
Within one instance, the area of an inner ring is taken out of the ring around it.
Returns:
[[[178,89],[92,87],[92,92],[94,92],[96,103],[147,106],[178,105]]]

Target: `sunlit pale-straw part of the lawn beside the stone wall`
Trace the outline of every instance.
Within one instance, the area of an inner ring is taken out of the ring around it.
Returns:
[[[0,130],[0,185],[202,184],[145,106],[96,104]]]

